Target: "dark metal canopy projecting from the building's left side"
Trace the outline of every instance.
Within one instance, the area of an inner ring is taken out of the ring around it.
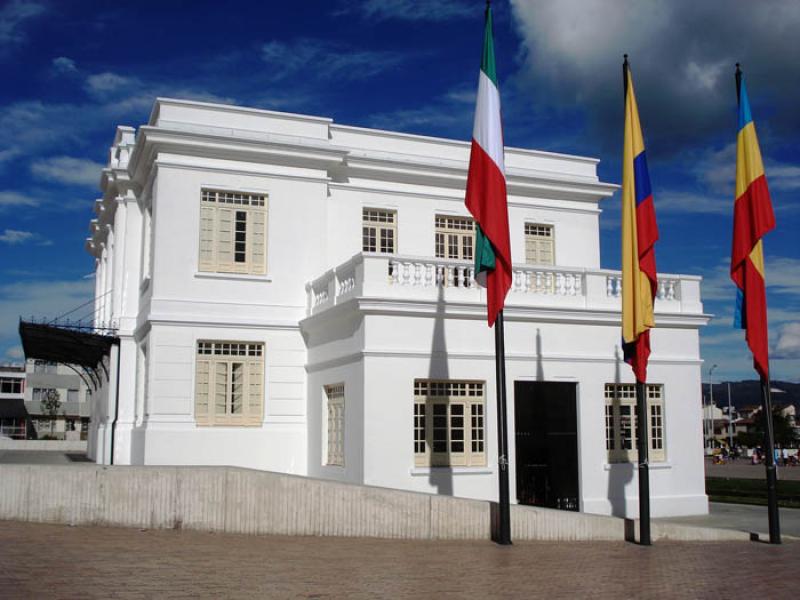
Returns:
[[[110,355],[111,346],[119,344],[119,338],[114,335],[26,321],[19,322],[19,337],[26,358],[65,364],[81,377],[85,373],[94,389],[100,386],[100,370],[108,377],[103,358]]]

